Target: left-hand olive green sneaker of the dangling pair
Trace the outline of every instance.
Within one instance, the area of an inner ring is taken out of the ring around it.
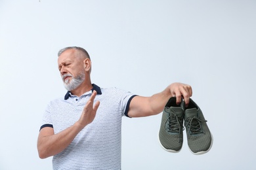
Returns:
[[[176,97],[171,97],[163,110],[159,141],[164,150],[177,153],[183,143],[184,110],[182,104],[176,104]]]

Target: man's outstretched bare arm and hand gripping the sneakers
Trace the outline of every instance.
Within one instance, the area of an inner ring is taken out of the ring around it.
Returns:
[[[192,96],[192,88],[188,84],[173,83],[167,86],[163,92],[156,93],[151,97],[135,96],[131,100],[128,116],[142,117],[158,114],[163,111],[170,97],[177,97],[177,104],[181,103],[182,98],[186,105]]]

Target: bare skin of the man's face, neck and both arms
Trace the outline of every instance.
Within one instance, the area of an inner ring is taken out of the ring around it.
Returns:
[[[79,50],[68,49],[58,57],[58,69],[60,75],[71,74],[74,77],[81,71],[85,73],[85,80],[74,90],[73,95],[81,96],[85,92],[89,92],[93,86],[91,84],[91,60],[81,54]],[[68,77],[71,79],[72,77]],[[72,141],[75,136],[93,122],[96,110],[100,105],[100,101],[95,100],[96,92],[94,91],[86,103],[81,117],[73,126],[64,129],[60,133],[54,134],[52,127],[44,127],[39,132],[37,139],[37,150],[39,158],[48,158],[62,152]],[[128,115],[130,117],[152,116],[159,114],[164,109],[170,97],[176,96],[177,103],[181,103],[182,98],[186,105],[189,103],[189,98],[192,96],[192,88],[188,84],[173,83],[167,86],[163,92],[156,93],[151,97],[136,96],[131,100]]]

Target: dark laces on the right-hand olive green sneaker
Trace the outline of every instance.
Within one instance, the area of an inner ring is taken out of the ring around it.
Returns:
[[[204,133],[201,122],[207,122],[207,120],[201,120],[200,118],[197,118],[196,116],[194,117],[188,117],[185,120],[185,127],[188,126],[188,131],[191,131],[191,133],[188,133],[190,135],[195,135],[198,133]]]

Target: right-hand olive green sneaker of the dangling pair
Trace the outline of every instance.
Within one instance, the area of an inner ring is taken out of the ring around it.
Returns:
[[[192,154],[205,154],[211,149],[213,136],[206,124],[207,120],[203,117],[202,110],[190,99],[188,107],[184,107],[184,126],[188,146]]]

